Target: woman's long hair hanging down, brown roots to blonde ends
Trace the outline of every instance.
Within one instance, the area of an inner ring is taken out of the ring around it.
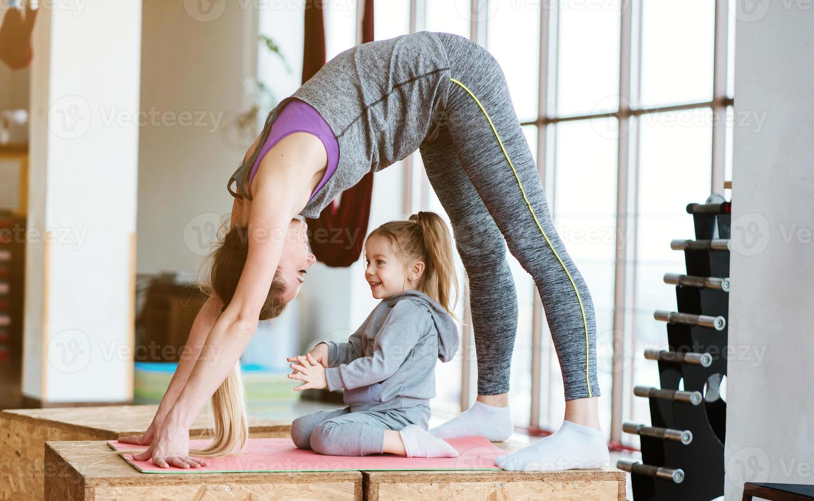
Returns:
[[[221,230],[225,224],[221,225]],[[219,234],[223,233],[219,230]],[[224,304],[229,304],[238,287],[238,281],[248,255],[248,229],[235,226],[225,235],[219,237],[207,261],[211,261],[208,281],[199,281],[199,287],[205,294],[216,295]],[[204,261],[204,264],[207,263]],[[274,276],[269,286],[269,294],[260,309],[258,320],[270,320],[282,314],[286,307],[280,299],[286,289],[285,281]],[[239,454],[246,447],[248,439],[248,420],[246,415],[246,396],[243,389],[243,377],[240,362],[234,364],[229,376],[212,394],[212,443],[190,454],[217,457]]]

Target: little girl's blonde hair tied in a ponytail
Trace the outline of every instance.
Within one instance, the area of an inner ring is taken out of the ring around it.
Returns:
[[[399,252],[405,270],[409,264],[423,261],[424,272],[416,289],[435,299],[444,310],[454,317],[458,284],[453,242],[449,228],[435,212],[419,211],[409,220],[390,221],[374,229],[368,235],[384,237]],[[455,291],[455,295],[451,291]]]

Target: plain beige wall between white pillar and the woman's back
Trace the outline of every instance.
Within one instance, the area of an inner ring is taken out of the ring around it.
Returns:
[[[143,2],[139,273],[195,272],[232,209],[226,181],[254,140],[232,126],[256,72],[254,3]]]

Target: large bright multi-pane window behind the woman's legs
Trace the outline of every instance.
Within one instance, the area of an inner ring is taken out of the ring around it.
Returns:
[[[609,438],[633,445],[636,437],[621,433],[622,421],[650,418],[646,399],[632,397],[632,386],[659,385],[656,364],[641,354],[666,342],[664,325],[652,314],[676,307],[662,277],[684,269],[683,255],[669,242],[692,237],[686,203],[723,192],[732,172],[729,2],[376,4],[377,39],[422,29],[457,33],[501,63],[554,224],[596,308],[602,427]],[[343,14],[328,20],[338,24],[328,29],[336,44],[351,43],[347,23],[356,15]],[[404,167],[405,212],[443,214],[418,152]],[[510,266],[520,312],[510,393],[514,422],[556,429],[562,379],[545,311],[531,277],[511,257]],[[462,335],[466,346],[471,333]],[[476,384],[470,358],[440,365],[439,381],[448,381],[439,385],[440,407],[470,405]]]

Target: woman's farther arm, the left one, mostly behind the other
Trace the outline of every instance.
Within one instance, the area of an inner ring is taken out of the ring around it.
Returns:
[[[195,362],[198,360],[201,349],[204,347],[204,342],[206,342],[206,338],[209,335],[209,331],[212,329],[212,325],[215,324],[217,317],[221,315],[221,307],[223,307],[221,298],[212,294],[206,303],[204,303],[204,306],[198,311],[198,315],[195,316],[195,322],[192,323],[190,337],[186,339],[186,345],[181,354],[181,359],[178,361],[178,366],[175,369],[173,378],[169,381],[169,387],[167,391],[164,392],[164,397],[161,398],[158,411],[155,412],[155,416],[153,416],[153,420],[150,427],[147,428],[147,432],[143,435],[119,438],[119,442],[133,443],[140,446],[150,445],[155,437],[155,430],[158,429],[164,421],[164,417],[167,416],[167,413],[173,407],[173,403],[175,403],[178,394],[181,394],[181,390],[183,390],[184,385],[186,385],[186,380],[190,376]]]

